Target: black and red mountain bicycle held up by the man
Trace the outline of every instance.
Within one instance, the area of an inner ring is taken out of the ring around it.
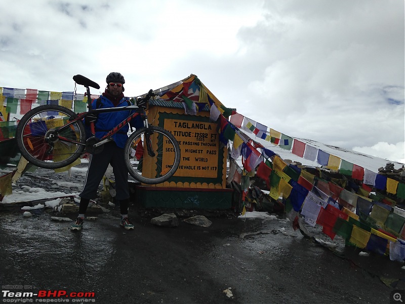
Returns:
[[[173,176],[180,164],[179,143],[166,129],[149,124],[144,113],[146,106],[93,109],[90,87],[100,89],[100,86],[79,74],[75,75],[73,80],[86,87],[89,110],[75,113],[61,105],[40,105],[28,111],[16,130],[18,148],[28,162],[41,168],[57,169],[72,164],[86,152],[101,153],[103,144],[113,140],[113,134],[140,115],[144,127],[133,132],[124,147],[129,173],[145,184],[158,184]],[[141,100],[147,104],[155,96],[157,94],[149,90]],[[128,118],[102,138],[95,137],[95,122],[90,122],[92,136],[87,139],[84,118],[101,112],[123,110],[131,110]]]

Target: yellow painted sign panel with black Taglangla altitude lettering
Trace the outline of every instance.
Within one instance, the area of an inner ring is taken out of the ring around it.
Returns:
[[[179,119],[166,119],[165,129],[171,132],[180,145],[181,161],[174,176],[217,177],[219,138],[217,124]],[[166,143],[165,143],[166,144]],[[165,153],[170,151],[164,145]],[[169,158],[170,159],[170,158]],[[165,168],[168,164],[163,164]]]

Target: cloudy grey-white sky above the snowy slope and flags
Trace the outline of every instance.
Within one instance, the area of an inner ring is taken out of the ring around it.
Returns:
[[[104,88],[119,71],[138,96],[192,73],[279,132],[405,159],[403,0],[13,0],[0,11],[0,87],[73,91],[83,74]]]

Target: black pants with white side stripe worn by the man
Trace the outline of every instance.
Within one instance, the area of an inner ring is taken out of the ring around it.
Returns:
[[[79,197],[87,201],[97,197],[98,186],[103,179],[104,173],[107,170],[108,165],[111,164],[115,177],[115,199],[120,201],[120,204],[129,204],[129,188],[128,188],[128,169],[124,159],[124,149],[118,147],[115,142],[109,142],[104,144],[103,151],[99,154],[90,156],[89,169],[87,170],[86,179]],[[86,211],[87,206],[82,206],[82,200],[80,200],[80,211]],[[123,206],[125,207],[125,206]],[[123,208],[121,208],[121,213]],[[83,212],[84,213],[84,212]],[[123,214],[125,214],[124,212]]]

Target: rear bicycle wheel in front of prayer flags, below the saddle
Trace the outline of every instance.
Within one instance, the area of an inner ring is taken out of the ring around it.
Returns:
[[[16,139],[21,155],[33,165],[58,169],[73,163],[85,149],[86,131],[82,121],[76,121],[58,132],[77,114],[61,105],[41,105],[28,111],[17,125]],[[62,140],[46,141],[46,134],[55,132],[78,143]]]

